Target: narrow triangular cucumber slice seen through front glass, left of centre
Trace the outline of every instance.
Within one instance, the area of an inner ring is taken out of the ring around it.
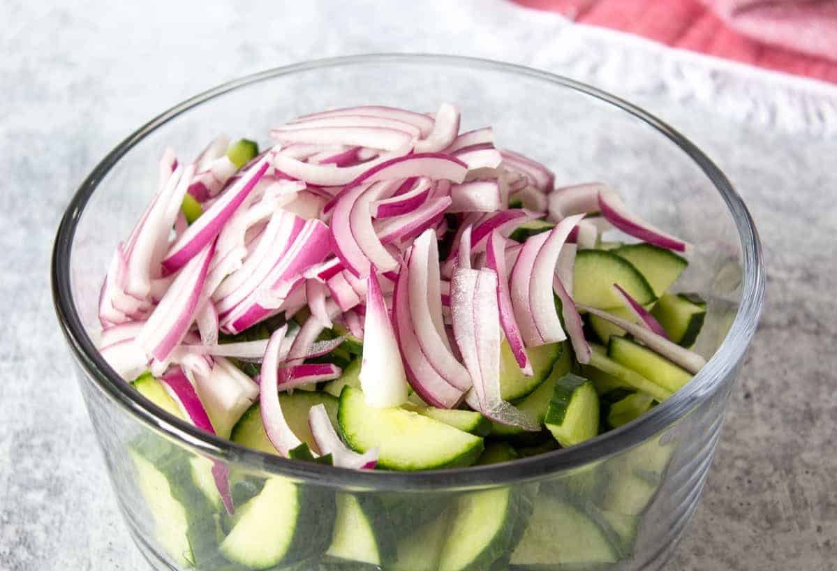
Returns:
[[[327,566],[336,563],[366,563],[380,567],[393,559],[393,527],[386,519],[383,504],[373,496],[338,493],[337,517],[331,544],[326,551]],[[339,565],[345,568],[345,565]]]

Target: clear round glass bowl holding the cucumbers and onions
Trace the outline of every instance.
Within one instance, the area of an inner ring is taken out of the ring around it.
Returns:
[[[460,105],[463,130],[494,126],[501,146],[545,162],[558,183],[608,181],[630,208],[696,244],[680,283],[708,298],[697,350],[711,359],[686,388],[619,430],[508,464],[418,473],[347,471],[204,434],[137,394],[100,358],[89,334],[100,283],[115,245],[155,188],[164,147],[190,157],[219,132],[264,141],[270,126],[328,107],[378,103],[429,111],[443,100]],[[444,528],[442,538],[432,538],[417,526],[480,502],[490,508],[475,519],[483,525],[496,521],[498,527],[466,566],[471,571],[660,568],[695,510],[764,287],[760,245],[747,208],[717,167],[670,126],[613,95],[535,69],[405,54],[270,69],[197,95],[142,126],[95,167],[69,204],[55,240],[52,280],[59,322],[131,537],[154,568],[202,571],[239,568],[215,547],[216,535],[227,526],[223,509],[213,516],[205,506],[190,505],[187,495],[182,503],[188,543],[183,543],[172,529],[172,514],[156,519],[159,506],[146,499],[182,492],[191,477],[189,460],[201,458],[227,466],[233,481],[258,487],[274,478],[295,486],[307,498],[303,510],[319,510],[310,536],[300,543],[306,547],[276,568],[379,563],[384,569],[435,571],[442,550],[440,571],[448,571],[460,565],[454,564],[452,549],[466,552],[465,546],[480,543]],[[141,489],[131,460],[137,447],[173,451],[168,457],[177,460],[165,468],[168,483],[146,481]],[[246,486],[239,488],[236,493],[247,493]],[[379,532],[377,561],[339,562],[323,554],[336,498],[347,502],[352,496]],[[521,534],[525,550],[515,548]],[[411,545],[408,563],[405,550]]]

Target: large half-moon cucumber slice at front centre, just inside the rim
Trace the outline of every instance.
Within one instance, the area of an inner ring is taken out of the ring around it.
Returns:
[[[409,410],[368,406],[362,391],[348,386],[340,394],[337,421],[352,449],[366,452],[377,447],[377,465],[382,468],[470,466],[483,450],[479,436]]]

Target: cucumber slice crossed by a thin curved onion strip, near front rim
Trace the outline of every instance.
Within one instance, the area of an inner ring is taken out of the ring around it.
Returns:
[[[307,391],[294,391],[293,394],[280,393],[279,402],[290,430],[311,450],[318,450],[314,436],[311,435],[311,428],[308,426],[308,411],[312,406],[324,404],[331,423],[337,425],[337,399],[331,394]],[[244,416],[233,427],[229,438],[233,442],[249,446],[254,450],[279,454],[264,433],[259,403],[254,404],[244,413]]]

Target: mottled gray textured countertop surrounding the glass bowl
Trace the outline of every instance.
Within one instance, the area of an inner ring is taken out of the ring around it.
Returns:
[[[74,188],[187,95],[372,51],[478,55],[585,80],[716,159],[762,234],[768,295],[703,500],[668,568],[834,569],[837,88],[567,27],[501,0],[72,5],[0,2],[0,571],[146,568],[52,311],[49,252]]]

